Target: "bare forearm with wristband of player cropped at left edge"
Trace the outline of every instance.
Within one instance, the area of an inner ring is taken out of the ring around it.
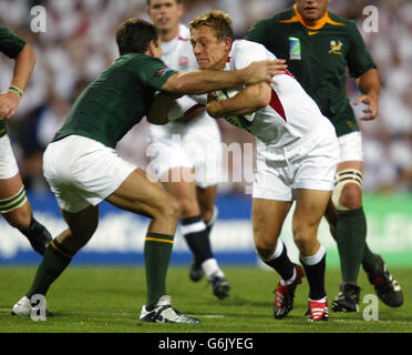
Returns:
[[[11,119],[19,106],[35,64],[35,53],[27,43],[16,58],[13,78],[8,92],[0,94],[0,109],[3,119]]]

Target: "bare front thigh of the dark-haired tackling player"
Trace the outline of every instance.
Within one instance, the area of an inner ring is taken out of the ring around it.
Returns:
[[[122,210],[150,217],[178,215],[176,200],[157,183],[148,180],[141,169],[133,171],[105,200]]]

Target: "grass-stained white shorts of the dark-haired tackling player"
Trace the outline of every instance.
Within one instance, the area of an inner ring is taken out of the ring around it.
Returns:
[[[137,166],[114,149],[80,135],[69,135],[48,145],[43,173],[59,206],[76,213],[111,195]]]

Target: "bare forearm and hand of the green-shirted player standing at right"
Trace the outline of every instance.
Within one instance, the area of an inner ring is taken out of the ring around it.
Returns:
[[[381,84],[379,81],[379,73],[377,69],[370,69],[357,79],[357,84],[362,95],[359,97],[354,104],[365,103],[367,109],[363,110],[365,113],[361,120],[374,120],[378,115],[379,110],[379,94],[381,91]]]

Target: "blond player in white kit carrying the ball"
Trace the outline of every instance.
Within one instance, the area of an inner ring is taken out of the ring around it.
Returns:
[[[234,41],[231,19],[223,11],[195,18],[189,29],[200,69],[237,70],[275,58],[261,44]],[[333,190],[339,155],[333,125],[288,71],[276,75],[272,84],[241,88],[231,99],[213,97],[209,95],[207,104],[212,116],[226,116],[257,138],[254,239],[259,257],[281,276],[275,292],[275,318],[284,318],[291,311],[295,290],[305,270],[309,283],[308,320],[327,321],[326,250],[317,231]],[[245,118],[250,112],[256,114]],[[303,268],[289,260],[279,240],[293,201],[293,240]]]

